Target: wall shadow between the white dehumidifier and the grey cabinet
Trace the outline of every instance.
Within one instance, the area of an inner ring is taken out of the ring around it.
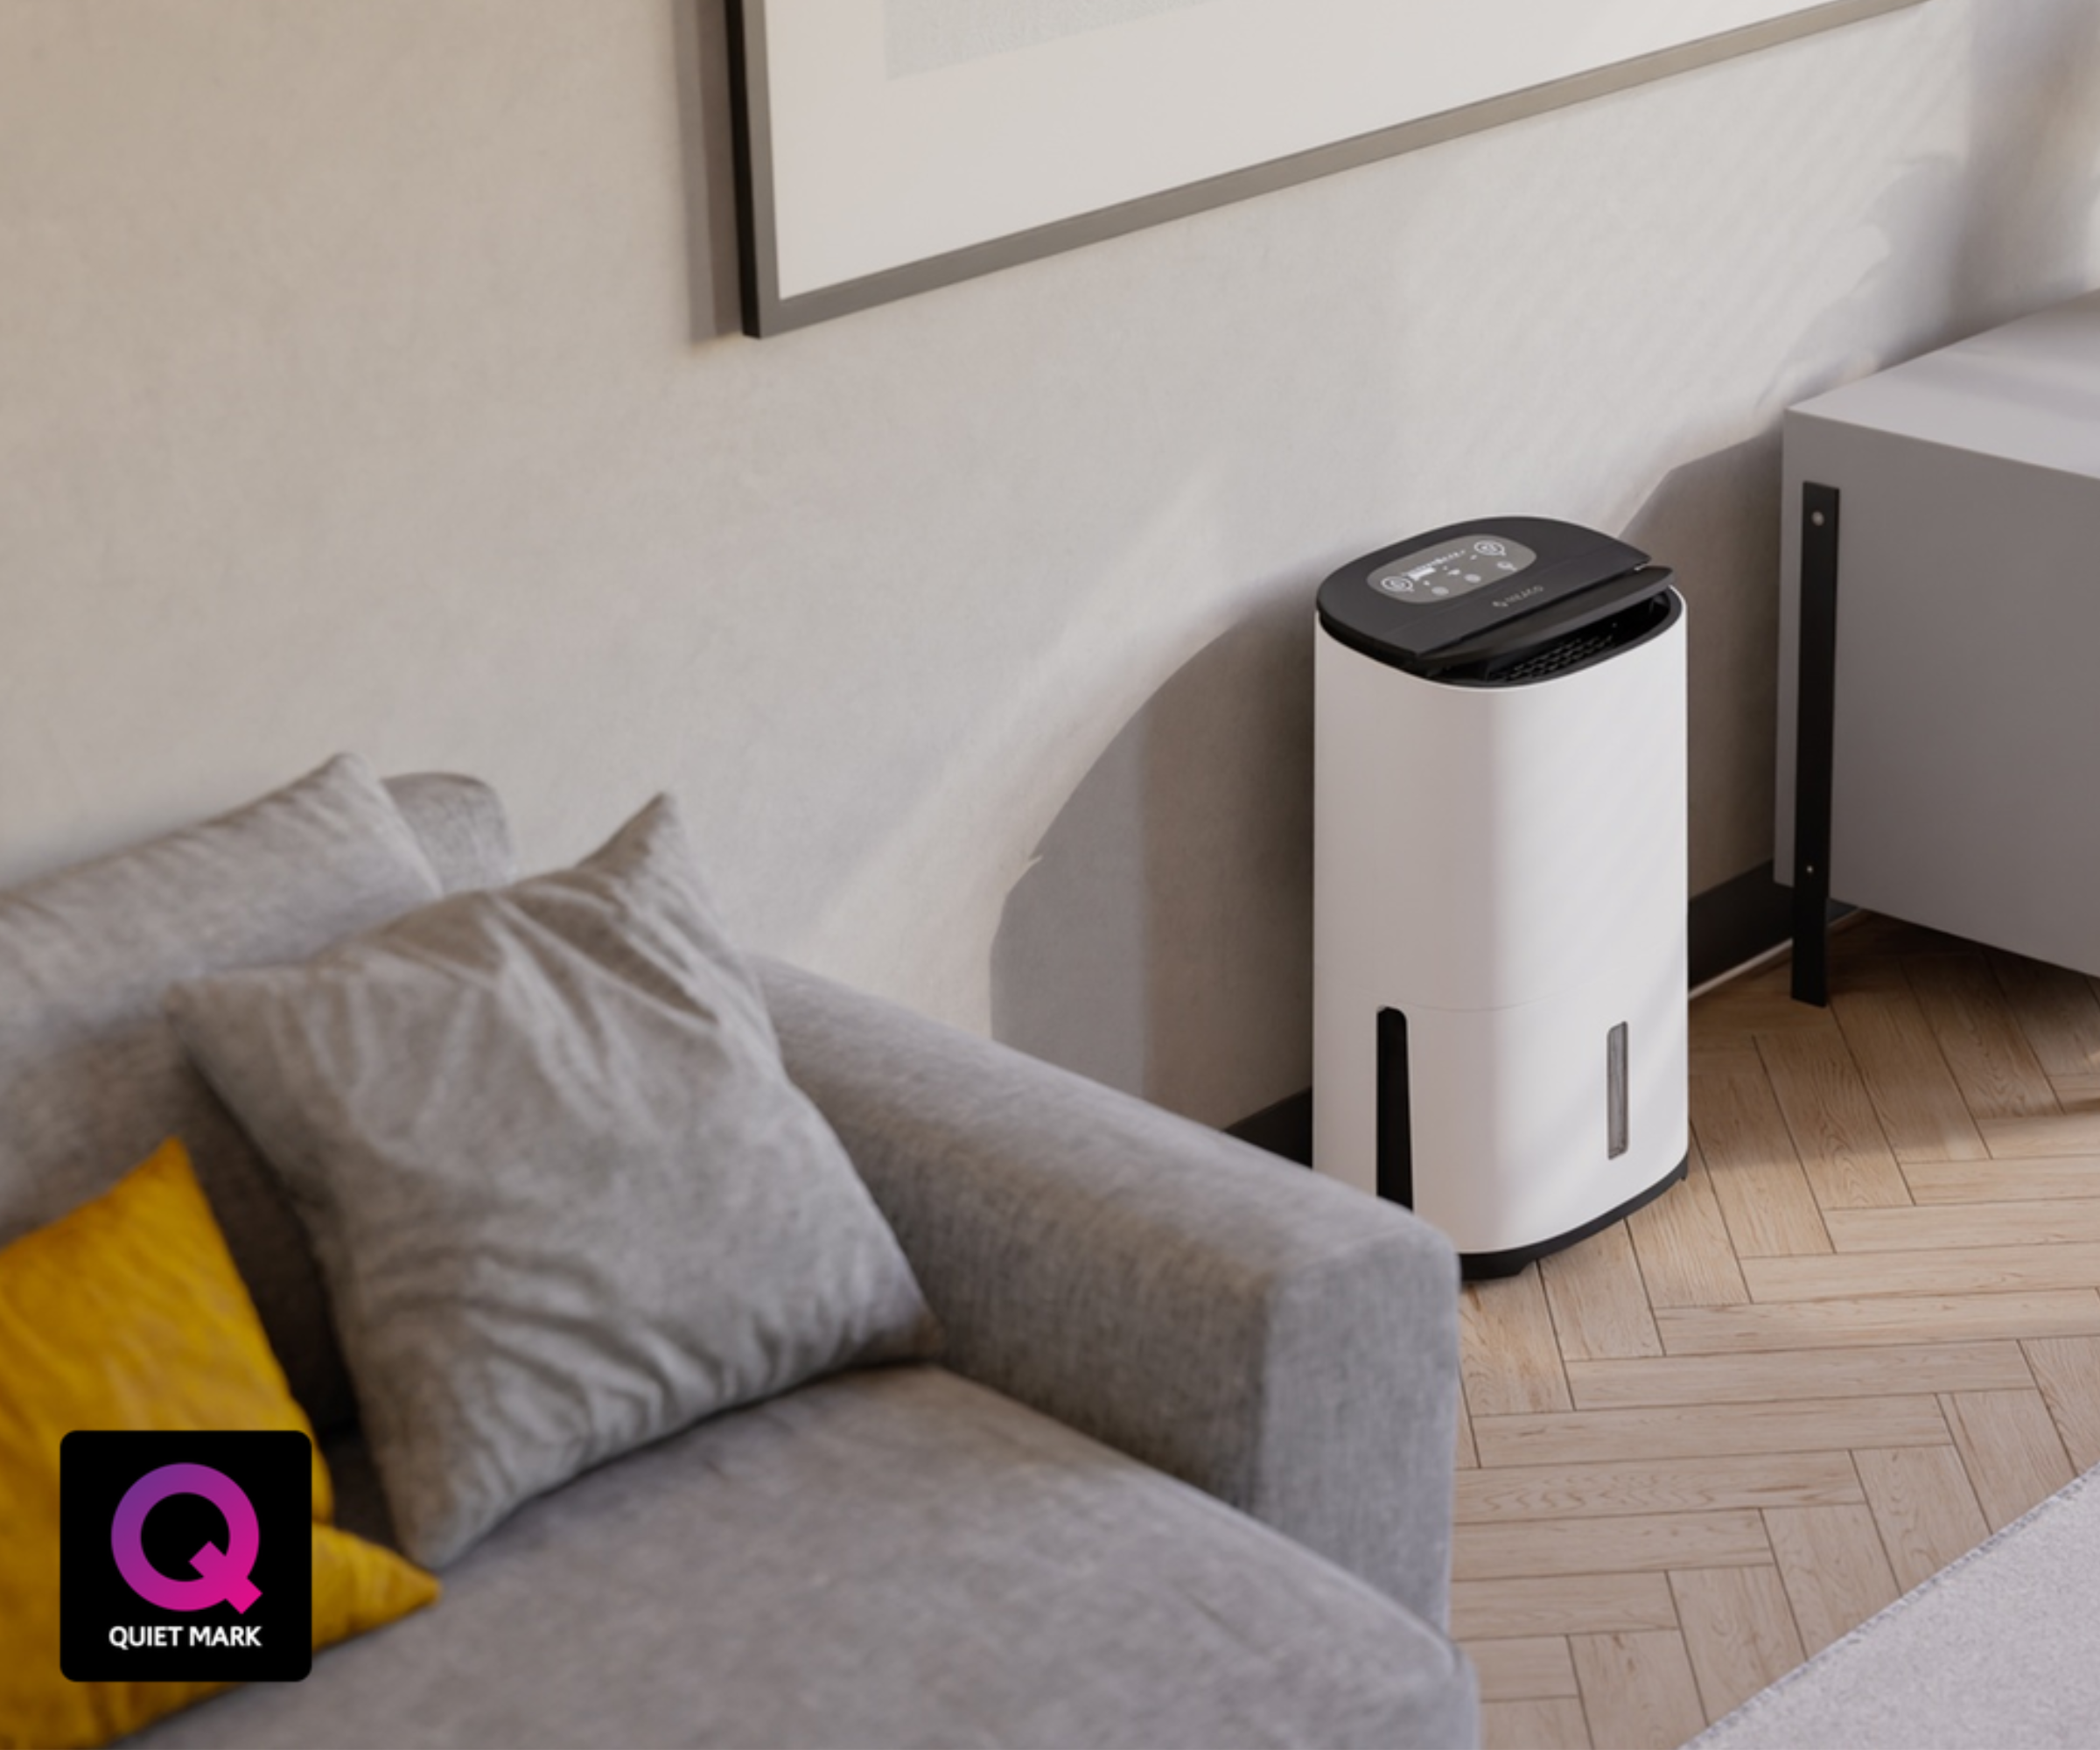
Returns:
[[[1690,739],[1690,891],[1772,855],[1779,433],[1684,462],[1625,540],[1678,574]]]

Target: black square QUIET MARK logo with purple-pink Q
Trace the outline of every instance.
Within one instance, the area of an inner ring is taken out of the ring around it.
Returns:
[[[59,1668],[76,1683],[304,1676],[311,1525],[304,1435],[67,1435]]]

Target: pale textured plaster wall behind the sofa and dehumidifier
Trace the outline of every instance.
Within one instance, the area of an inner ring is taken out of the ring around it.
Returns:
[[[0,0],[0,878],[344,746],[536,863],[670,788],[752,941],[1235,1118],[1308,1078],[1327,569],[1480,511],[1676,561],[1712,887],[1779,410],[2100,277],[2100,13],[1928,0],[750,342],[720,55]]]

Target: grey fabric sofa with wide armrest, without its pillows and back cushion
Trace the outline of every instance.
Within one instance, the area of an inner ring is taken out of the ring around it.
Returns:
[[[489,790],[388,792],[447,889],[512,876]],[[1474,1742],[1443,1634],[1449,1246],[998,1044],[760,973],[790,1074],[945,1326],[941,1363],[836,1374],[586,1473],[447,1567],[437,1607],[141,1742]],[[6,979],[0,1090],[34,1092]],[[10,1134],[0,1239],[36,1204]],[[284,1212],[214,1204],[298,1384],[328,1336],[258,1282]],[[338,1521],[386,1540],[355,1426],[309,1408]]]

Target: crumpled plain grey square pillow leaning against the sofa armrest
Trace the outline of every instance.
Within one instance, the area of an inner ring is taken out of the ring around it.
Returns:
[[[183,985],[170,1013],[315,1237],[416,1561],[699,1416],[932,1340],[668,798],[575,870]]]

